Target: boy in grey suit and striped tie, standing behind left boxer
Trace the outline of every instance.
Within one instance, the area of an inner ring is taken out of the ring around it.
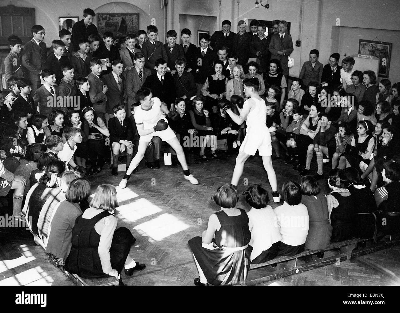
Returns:
[[[128,116],[131,116],[130,107],[132,104],[138,102],[136,92],[142,88],[146,78],[151,76],[148,68],[144,68],[144,55],[142,52],[135,53],[134,67],[126,74],[126,95],[128,98]],[[140,77],[142,76],[142,77]]]

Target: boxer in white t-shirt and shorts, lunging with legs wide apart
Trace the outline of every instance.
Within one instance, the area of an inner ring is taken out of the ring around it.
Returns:
[[[197,179],[190,174],[188,165],[186,164],[186,158],[182,146],[179,144],[176,135],[168,126],[166,118],[164,118],[162,114],[164,112],[165,114],[168,114],[169,117],[172,117],[173,115],[176,115],[176,112],[169,112],[166,105],[162,103],[160,99],[153,98],[153,95],[148,88],[141,88],[138,90],[136,97],[140,102],[140,106],[138,106],[135,112],[136,126],[140,135],[138,153],[130,163],[130,166],[119,186],[121,188],[126,187],[130,174],[143,159],[144,152],[154,136],[160,137],[161,140],[166,141],[172,149],[175,150],[176,156],[182,166],[184,178],[190,181],[193,185],[197,185]]]

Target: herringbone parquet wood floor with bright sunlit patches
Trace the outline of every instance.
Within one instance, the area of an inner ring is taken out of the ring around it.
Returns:
[[[161,162],[162,163],[162,160]],[[312,163],[315,166],[315,159]],[[282,160],[273,162],[278,186],[288,179],[300,179]],[[326,172],[330,163],[324,164]],[[122,274],[128,285],[193,285],[198,277],[196,266],[187,241],[201,236],[208,217],[219,209],[211,196],[217,187],[229,183],[234,167],[234,157],[193,164],[190,170],[199,180],[191,185],[183,177],[180,167],[161,165],[160,169],[147,169],[141,164],[132,175],[126,189],[117,188],[120,207],[116,216],[120,226],[128,227],[136,237],[131,248],[134,259],[146,264],[146,269],[131,277]],[[315,168],[312,167],[312,172]],[[89,177],[92,191],[101,183],[118,185],[123,173],[117,177],[109,169]],[[250,157],[242,175],[238,191],[247,185],[262,183],[270,186],[260,157]],[[320,181],[328,192],[326,179]],[[270,203],[276,207],[275,203]],[[240,197],[238,207],[250,209]],[[400,247],[329,265],[304,273],[285,277],[266,285],[398,285],[400,275]],[[18,259],[19,258],[19,259]],[[17,260],[16,260],[17,259]],[[290,265],[290,263],[288,264]],[[279,264],[279,267],[287,266]],[[274,271],[262,268],[250,271]],[[15,229],[0,230],[0,285],[73,285],[72,282],[47,260],[41,247],[25,232]]]

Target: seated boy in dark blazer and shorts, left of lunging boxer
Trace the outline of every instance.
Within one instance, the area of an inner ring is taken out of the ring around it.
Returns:
[[[129,168],[133,156],[133,127],[129,118],[126,118],[125,106],[116,104],[112,111],[114,117],[108,120],[110,145],[112,148],[111,174],[118,175],[118,155],[126,152],[126,168]]]

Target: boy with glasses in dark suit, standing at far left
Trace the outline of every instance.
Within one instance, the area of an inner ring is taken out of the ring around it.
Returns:
[[[39,75],[47,60],[46,44],[43,42],[46,32],[41,25],[34,25],[31,30],[33,38],[25,44],[22,51],[22,66],[28,74],[28,80],[32,82],[32,92],[35,92],[41,85]]]

